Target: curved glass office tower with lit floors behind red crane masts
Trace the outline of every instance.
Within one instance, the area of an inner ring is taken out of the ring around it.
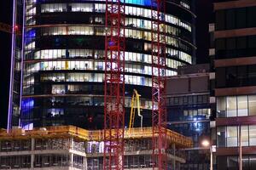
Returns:
[[[167,76],[193,63],[193,8],[193,1],[166,1]],[[102,128],[105,1],[26,0],[24,14],[20,125]],[[137,89],[143,126],[150,126],[150,0],[128,0],[125,14],[125,121]]]

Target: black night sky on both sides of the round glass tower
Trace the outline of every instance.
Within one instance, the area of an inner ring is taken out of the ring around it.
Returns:
[[[196,1],[196,42],[197,63],[207,63],[208,59],[208,24],[212,23],[212,0]],[[11,0],[0,0],[0,22],[11,24]],[[9,67],[11,35],[0,31],[0,127],[6,128],[9,100]]]

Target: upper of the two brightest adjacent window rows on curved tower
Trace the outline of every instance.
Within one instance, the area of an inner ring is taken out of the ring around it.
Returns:
[[[92,49],[44,49],[35,52],[33,58],[26,57],[26,59],[72,59],[72,58],[84,58],[84,59],[103,59],[105,51],[103,50],[92,50]],[[175,56],[183,61],[192,63],[191,56],[189,54],[183,53],[182,51],[177,51],[172,49],[167,57]],[[29,56],[28,54],[26,56]],[[152,63],[152,56],[149,54],[139,54],[132,52],[125,52],[125,61],[135,61],[143,63]],[[173,64],[172,64],[173,63]],[[172,59],[166,59],[166,65],[171,68],[177,68],[180,65],[172,62]]]

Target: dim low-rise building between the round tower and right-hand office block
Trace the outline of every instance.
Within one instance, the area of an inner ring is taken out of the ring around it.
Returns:
[[[210,141],[209,65],[179,67],[177,76],[167,78],[166,106],[168,127],[193,140],[185,150],[186,163],[182,170],[208,170],[210,150],[201,143]]]

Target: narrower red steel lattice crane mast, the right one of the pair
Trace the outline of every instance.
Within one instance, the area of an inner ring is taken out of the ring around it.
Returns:
[[[153,169],[166,170],[166,25],[165,0],[151,0]]]

